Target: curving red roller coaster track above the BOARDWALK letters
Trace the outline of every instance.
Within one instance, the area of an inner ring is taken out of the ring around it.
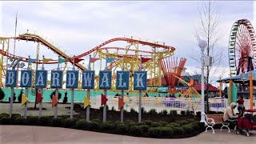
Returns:
[[[42,45],[46,46],[48,49],[52,50],[54,53],[58,54],[59,56],[61,56],[62,58],[66,58],[68,60],[68,62],[72,62],[73,57],[65,54],[64,52],[62,52],[62,50],[59,50],[58,47],[53,46],[50,42],[47,42],[44,38],[38,36],[37,34],[20,34],[18,37],[13,37],[14,39],[17,40],[23,40],[23,41],[30,41],[30,42],[41,42]],[[88,54],[93,53],[95,50],[99,50],[102,48],[102,46],[105,46],[106,44],[110,43],[110,42],[116,42],[116,41],[125,41],[125,42],[138,42],[139,44],[142,45],[146,45],[146,46],[153,46],[153,47],[158,47],[158,48],[164,48],[167,50],[171,50],[174,51],[175,48],[172,46],[166,46],[166,45],[162,45],[159,44],[158,42],[146,42],[146,41],[142,41],[142,40],[138,40],[138,39],[133,39],[133,38],[112,38],[106,42],[103,42],[102,44],[94,47],[93,49],[86,51],[83,54],[79,54],[77,55],[75,58],[82,58]],[[106,47],[106,48],[102,48],[103,50],[105,49],[116,49],[116,50],[125,50],[125,48],[117,48],[117,47]],[[136,51],[136,50],[131,50],[131,51]],[[144,51],[144,50],[139,50],[140,52],[144,52],[144,53],[153,53],[150,51]],[[0,54],[3,54],[7,57],[14,57],[14,58],[22,58],[13,54],[9,54],[5,51],[0,50]],[[22,58],[22,62],[28,62],[28,58]],[[52,61],[52,62],[48,62],[48,64],[54,64],[57,63],[58,61]],[[42,63],[42,60],[39,60],[39,62],[35,62],[35,63]],[[87,70],[87,68],[85,66],[82,66],[79,63],[75,63],[75,66],[78,67],[78,69],[81,70]]]

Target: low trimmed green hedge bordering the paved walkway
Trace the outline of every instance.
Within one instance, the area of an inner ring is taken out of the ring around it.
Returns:
[[[204,130],[204,124],[194,119],[178,122],[152,122],[145,120],[140,123],[131,120],[127,120],[126,122],[101,122],[99,119],[94,119],[87,122],[85,118],[51,118],[46,116],[38,118],[28,116],[25,119],[20,114],[12,114],[12,118],[9,117],[9,114],[0,114],[0,124],[58,126],[150,138],[173,138],[174,135],[191,134],[198,130],[200,132]]]

